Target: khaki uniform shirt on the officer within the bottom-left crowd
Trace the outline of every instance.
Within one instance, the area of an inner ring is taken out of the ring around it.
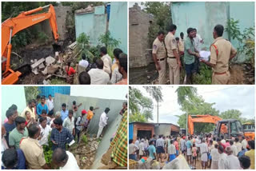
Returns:
[[[43,149],[38,140],[30,137],[23,139],[20,143],[20,149],[26,157],[27,169],[42,169],[42,166],[46,164]]]

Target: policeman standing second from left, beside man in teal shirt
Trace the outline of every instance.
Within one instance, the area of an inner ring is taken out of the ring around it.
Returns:
[[[182,67],[181,60],[178,55],[178,47],[174,37],[177,30],[177,26],[174,24],[170,25],[169,33],[166,35],[165,43],[167,50],[167,63],[169,65],[170,84],[179,84],[179,72]]]

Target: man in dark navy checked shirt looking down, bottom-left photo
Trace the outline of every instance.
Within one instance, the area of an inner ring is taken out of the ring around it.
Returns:
[[[66,149],[66,144],[74,140],[69,129],[62,127],[62,118],[54,119],[55,128],[52,129],[50,134],[50,141],[54,143],[53,150],[59,148]]]

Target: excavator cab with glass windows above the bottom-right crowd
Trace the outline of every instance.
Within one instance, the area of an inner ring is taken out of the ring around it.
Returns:
[[[236,119],[218,121],[214,132],[217,137],[223,136],[225,139],[243,135],[242,124]]]

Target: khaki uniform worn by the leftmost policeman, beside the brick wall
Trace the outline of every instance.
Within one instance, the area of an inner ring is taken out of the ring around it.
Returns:
[[[166,47],[156,38],[153,42],[152,54],[156,54],[161,70],[158,70],[159,84],[166,84]]]

